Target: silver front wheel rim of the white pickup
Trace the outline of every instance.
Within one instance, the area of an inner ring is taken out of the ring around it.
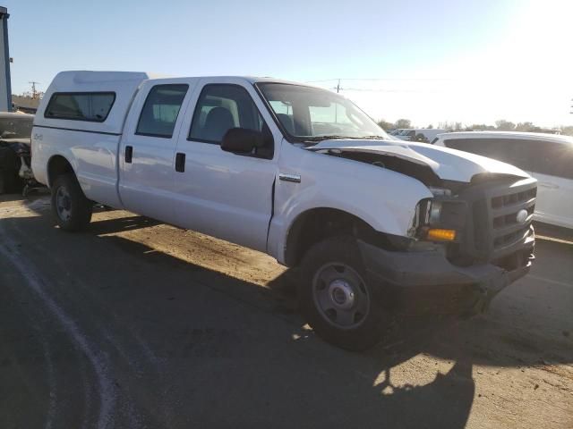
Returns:
[[[360,274],[342,263],[323,265],[312,279],[312,298],[321,316],[338,329],[363,324],[370,296]]]

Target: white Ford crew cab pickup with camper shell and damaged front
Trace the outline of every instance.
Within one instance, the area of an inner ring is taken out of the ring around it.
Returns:
[[[482,311],[533,259],[526,172],[391,140],[345,97],[293,82],[64,71],[32,168],[63,230],[97,202],[300,267],[304,317],[345,349],[378,341],[390,310]]]

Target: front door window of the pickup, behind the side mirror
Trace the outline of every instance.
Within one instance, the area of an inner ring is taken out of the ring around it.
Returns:
[[[238,85],[209,84],[201,91],[189,130],[189,139],[220,144],[231,128],[266,128],[246,89]]]

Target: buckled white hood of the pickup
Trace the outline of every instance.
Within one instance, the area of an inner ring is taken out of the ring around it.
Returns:
[[[424,143],[397,140],[333,139],[323,140],[319,144],[307,148],[313,151],[338,149],[344,152],[397,156],[415,164],[429,166],[444,181],[470,182],[475,175],[483,173],[529,177],[529,174],[510,164],[461,150]]]

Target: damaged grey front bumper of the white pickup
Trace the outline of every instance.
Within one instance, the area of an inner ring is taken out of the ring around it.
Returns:
[[[395,252],[358,243],[383,305],[405,314],[467,316],[483,312],[500,290],[529,272],[535,239],[503,261],[507,268],[452,265],[438,250]]]

